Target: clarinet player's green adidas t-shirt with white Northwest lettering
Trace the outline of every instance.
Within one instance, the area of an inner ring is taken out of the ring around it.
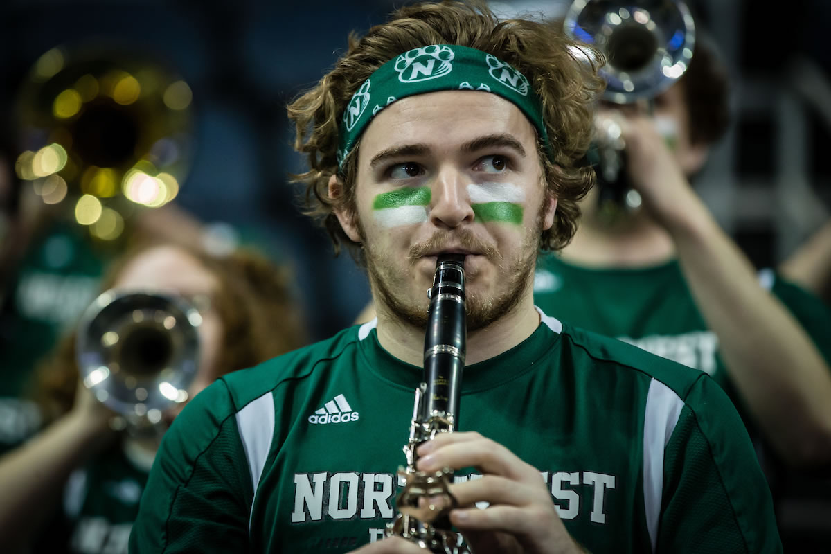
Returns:
[[[465,368],[460,430],[538,468],[592,552],[781,551],[750,439],[709,377],[542,320]],[[348,552],[376,540],[394,516],[421,378],[381,348],[374,322],[225,375],[165,434],[130,552]]]

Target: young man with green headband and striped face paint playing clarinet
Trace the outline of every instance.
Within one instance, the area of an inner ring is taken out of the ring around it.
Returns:
[[[436,257],[465,256],[463,432],[450,521],[475,552],[780,552],[730,401],[701,372],[534,309],[573,234],[596,70],[483,7],[402,8],[289,107],[302,176],[360,249],[377,319],[225,377],[165,435],[132,552],[424,552],[383,537],[405,459]],[[488,503],[479,509],[477,503]],[[368,544],[367,544],[368,543]]]

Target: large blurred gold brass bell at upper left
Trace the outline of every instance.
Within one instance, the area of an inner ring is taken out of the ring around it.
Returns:
[[[158,61],[106,43],[55,47],[19,91],[17,175],[92,238],[174,199],[189,169],[192,93]]]

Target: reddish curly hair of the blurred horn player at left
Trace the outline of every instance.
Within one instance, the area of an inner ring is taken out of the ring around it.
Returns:
[[[275,266],[258,252],[238,250],[216,257],[183,243],[145,241],[111,263],[101,290],[113,287],[135,257],[162,247],[187,253],[219,282],[218,290],[211,297],[211,309],[218,311],[224,330],[219,374],[256,365],[305,344],[301,312],[291,287],[291,272],[287,267]],[[61,337],[35,371],[31,395],[47,422],[66,414],[75,400],[79,375],[75,343],[73,329]]]

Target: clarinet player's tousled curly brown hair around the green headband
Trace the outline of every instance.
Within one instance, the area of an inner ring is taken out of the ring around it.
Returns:
[[[577,228],[577,203],[594,184],[593,169],[580,160],[591,140],[593,102],[605,86],[597,75],[602,55],[586,45],[578,46],[549,23],[499,21],[484,2],[477,1],[401,7],[364,37],[352,33],[346,54],[332,71],[288,105],[288,117],[297,132],[294,148],[307,154],[310,168],[294,176],[306,184],[307,215],[322,220],[336,253],[340,244],[360,252],[360,245],[343,232],[334,210],[355,213],[356,152],[361,141],[356,141],[352,155],[337,173],[338,122],[352,95],[374,71],[403,52],[431,44],[488,52],[528,78],[540,98],[553,150],[553,159],[549,159],[545,145],[538,144],[545,184],[548,194],[558,199],[553,227],[543,232],[540,245],[543,250],[563,248]],[[328,194],[332,174],[343,184],[343,194],[337,198]]]

